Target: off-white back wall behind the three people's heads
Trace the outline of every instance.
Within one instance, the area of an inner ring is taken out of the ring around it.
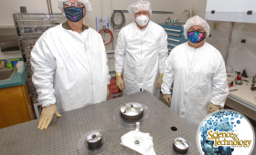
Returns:
[[[84,19],[84,24],[96,28],[96,16],[109,16],[111,19],[112,10],[127,10],[128,5],[131,5],[136,0],[91,0],[92,13],[90,16]],[[174,14],[153,14],[151,20],[155,23],[160,23],[167,17],[172,19],[181,19],[183,15],[183,9],[190,9],[194,5],[195,15],[199,15],[204,18],[206,12],[207,0],[148,0],[154,11],[170,11]],[[58,8],[58,0],[51,0],[53,13],[61,13]],[[48,13],[47,0],[8,0],[3,1],[0,5],[0,27],[1,26],[14,26],[13,13],[19,12],[20,6],[27,6],[27,13]],[[125,13],[126,25],[133,22],[133,18],[128,13]],[[110,26],[112,30],[112,27]],[[116,44],[116,36],[118,32],[114,34],[113,46]],[[110,35],[106,35],[106,41],[110,40]],[[112,49],[112,44],[106,47],[107,50]]]

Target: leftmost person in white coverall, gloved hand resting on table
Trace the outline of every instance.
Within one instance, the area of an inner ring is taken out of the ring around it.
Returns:
[[[59,110],[80,109],[106,100],[110,81],[101,35],[83,25],[88,0],[59,0],[67,22],[49,28],[31,51],[33,83],[43,109],[38,129],[47,129]]]

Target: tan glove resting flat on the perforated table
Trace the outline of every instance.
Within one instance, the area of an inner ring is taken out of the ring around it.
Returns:
[[[48,107],[43,108],[37,129],[47,129],[49,123],[51,122],[53,114],[55,114],[58,117],[61,117],[56,107],[56,104],[49,105]]]

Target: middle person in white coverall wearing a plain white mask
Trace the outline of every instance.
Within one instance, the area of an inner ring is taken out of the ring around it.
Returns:
[[[128,7],[135,21],[122,28],[114,53],[116,85],[123,95],[148,90],[159,98],[167,58],[167,35],[150,21],[150,3],[137,1]],[[123,72],[123,79],[121,74]]]

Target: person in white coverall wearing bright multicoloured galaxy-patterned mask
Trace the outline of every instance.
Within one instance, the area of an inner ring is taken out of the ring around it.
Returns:
[[[187,20],[188,42],[175,47],[166,59],[161,88],[171,109],[195,128],[210,112],[223,108],[229,95],[225,62],[219,50],[205,42],[209,30],[197,15]]]

